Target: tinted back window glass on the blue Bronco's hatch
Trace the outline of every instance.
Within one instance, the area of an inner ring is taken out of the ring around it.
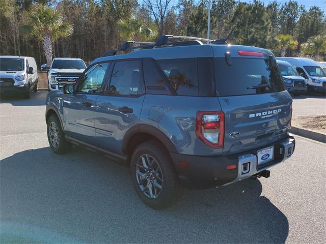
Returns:
[[[269,59],[232,58],[231,66],[224,57],[214,59],[219,96],[274,93],[285,89],[276,62],[271,65]]]

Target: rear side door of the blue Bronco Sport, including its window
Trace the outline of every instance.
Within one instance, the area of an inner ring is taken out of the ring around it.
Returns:
[[[139,124],[145,97],[142,60],[115,62],[103,93],[96,101],[95,128],[97,145],[122,155],[125,133]]]

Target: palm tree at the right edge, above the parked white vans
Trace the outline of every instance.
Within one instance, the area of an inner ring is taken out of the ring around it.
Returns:
[[[318,61],[320,53],[326,53],[326,36],[311,37],[308,42],[301,44],[301,50],[305,54],[315,55]]]

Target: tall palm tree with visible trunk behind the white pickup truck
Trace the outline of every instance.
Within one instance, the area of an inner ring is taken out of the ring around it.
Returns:
[[[43,43],[46,64],[49,67],[52,61],[52,43],[59,38],[71,36],[73,25],[65,22],[55,9],[44,4],[35,4],[25,13],[26,24],[22,31],[29,38],[36,37]]]

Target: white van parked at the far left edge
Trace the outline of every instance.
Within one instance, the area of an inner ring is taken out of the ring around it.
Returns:
[[[37,92],[37,66],[34,57],[0,56],[0,94]]]

